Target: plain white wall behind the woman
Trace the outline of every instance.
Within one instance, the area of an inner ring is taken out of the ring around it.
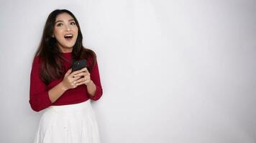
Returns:
[[[103,143],[256,142],[253,0],[1,0],[0,142],[35,137],[29,74],[54,9],[98,56]]]

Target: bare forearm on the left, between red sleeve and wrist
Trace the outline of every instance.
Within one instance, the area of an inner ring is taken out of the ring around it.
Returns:
[[[48,91],[51,102],[55,102],[67,89],[63,86],[63,82],[60,82],[55,87]]]

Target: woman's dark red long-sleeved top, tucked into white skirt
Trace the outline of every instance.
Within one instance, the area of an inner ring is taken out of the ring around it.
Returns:
[[[68,69],[70,69],[70,63],[72,63],[71,53],[63,53],[63,57],[65,57],[65,59],[68,59],[68,61],[64,61],[63,63],[66,72],[68,71]],[[103,91],[101,87],[101,80],[99,77],[97,62],[94,64],[93,69],[90,73],[91,80],[96,85],[96,92],[94,97],[91,97],[88,94],[86,85],[80,85],[75,89],[68,89],[61,97],[59,97],[53,103],[50,101],[48,91],[52,89],[52,87],[55,87],[55,85],[59,84],[63,80],[63,78],[52,81],[50,82],[50,84],[46,85],[44,82],[42,82],[42,79],[40,79],[41,65],[42,62],[40,61],[40,58],[35,57],[30,73],[29,89],[29,104],[35,112],[40,112],[42,109],[50,107],[51,105],[77,104],[85,102],[88,99],[96,101],[101,98]]]

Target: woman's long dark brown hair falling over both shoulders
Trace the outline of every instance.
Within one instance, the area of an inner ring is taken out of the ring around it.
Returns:
[[[76,16],[66,9],[56,9],[50,13],[47,21],[45,22],[40,46],[35,53],[35,56],[39,56],[42,61],[40,76],[45,84],[49,84],[52,80],[59,79],[65,74],[62,64],[62,61],[64,60],[63,56],[61,56],[57,40],[55,37],[52,37],[55,19],[59,14],[63,13],[67,13],[72,16],[76,21],[76,26],[78,26],[78,37],[72,51],[73,61],[78,59],[91,59],[91,64],[88,65],[88,71],[91,71],[96,61],[96,54],[91,49],[86,49],[82,44],[83,35]]]

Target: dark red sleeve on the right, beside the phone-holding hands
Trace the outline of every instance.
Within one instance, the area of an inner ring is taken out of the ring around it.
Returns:
[[[90,99],[96,101],[101,98],[103,90],[101,87],[101,79],[99,76],[99,67],[97,61],[95,62],[93,69],[91,70],[91,80],[96,85],[96,91],[93,97],[90,96]]]

